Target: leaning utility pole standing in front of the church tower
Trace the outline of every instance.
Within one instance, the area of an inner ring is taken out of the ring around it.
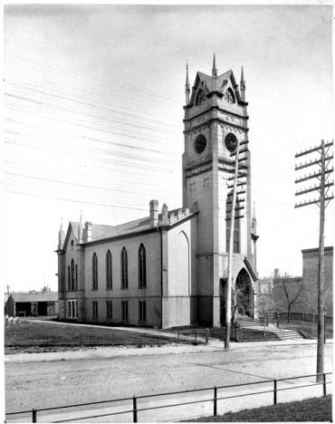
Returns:
[[[230,217],[226,220],[230,220],[230,232],[229,232],[229,251],[228,251],[228,273],[227,273],[227,284],[226,284],[226,297],[225,297],[225,349],[229,349],[231,321],[232,321],[232,292],[233,292],[233,254],[234,254],[234,230],[235,230],[235,219],[241,219],[244,216],[239,215],[240,211],[244,209],[241,203],[244,202],[244,198],[238,198],[238,195],[244,194],[244,180],[239,178],[245,178],[247,166],[241,164],[246,160],[246,157],[240,157],[240,153],[244,153],[247,149],[241,149],[240,146],[247,144],[248,141],[236,141],[235,151],[230,156],[235,156],[235,166],[232,169],[234,177],[228,178],[228,181],[234,180],[232,186],[228,185],[228,188],[233,188],[231,199],[227,201],[227,204],[231,204]],[[240,172],[240,169],[242,171]],[[241,187],[237,192],[237,188]],[[237,203],[237,207],[236,207]],[[237,215],[236,215],[237,212]]]

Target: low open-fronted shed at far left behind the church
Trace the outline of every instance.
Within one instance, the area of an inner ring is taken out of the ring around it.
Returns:
[[[12,293],[5,304],[9,316],[41,316],[58,313],[57,292]]]

